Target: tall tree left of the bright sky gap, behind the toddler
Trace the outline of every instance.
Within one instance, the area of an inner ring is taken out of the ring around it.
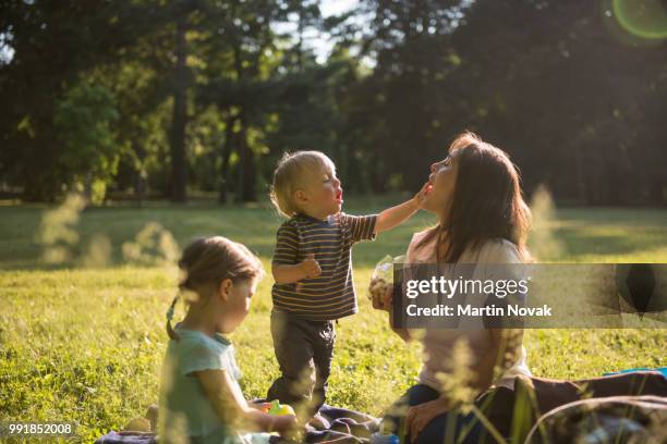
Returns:
[[[226,115],[220,201],[227,200],[234,153],[235,200],[257,199],[257,157],[276,115],[275,99],[283,90],[278,66],[286,70],[292,63],[286,55],[289,51],[281,53],[272,26],[286,22],[290,13],[298,13],[300,26],[305,26],[306,17],[317,16],[313,8],[313,2],[277,0],[231,1],[213,7],[217,26],[209,27],[205,46],[206,59],[215,61],[207,66],[208,82],[199,85],[197,97],[201,107],[215,104]],[[214,53],[218,57],[213,58]],[[304,63],[303,50],[296,62]]]

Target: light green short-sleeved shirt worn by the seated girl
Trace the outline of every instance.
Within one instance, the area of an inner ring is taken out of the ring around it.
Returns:
[[[160,383],[160,443],[196,442],[202,444],[267,443],[268,434],[241,435],[216,414],[204,387],[194,374],[203,370],[226,370],[234,391],[241,393],[241,371],[231,342],[193,330],[174,329],[179,341],[170,341],[162,365]]]

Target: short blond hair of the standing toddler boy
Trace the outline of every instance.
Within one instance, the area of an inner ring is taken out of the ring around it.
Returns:
[[[294,193],[304,186],[307,172],[336,171],[336,165],[324,152],[296,151],[286,152],[274,171],[271,202],[276,210],[286,218],[292,218],[299,211]]]

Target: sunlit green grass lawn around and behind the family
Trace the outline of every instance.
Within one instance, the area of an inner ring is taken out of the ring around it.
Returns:
[[[373,212],[398,201],[355,199],[345,209]],[[178,278],[173,266],[128,263],[122,245],[133,243],[147,223],[158,222],[181,247],[195,236],[220,234],[246,244],[268,266],[280,219],[266,206],[94,208],[82,213],[70,258],[45,263],[37,239],[47,210],[0,206],[0,421],[75,420],[90,442],[157,400],[167,344],[163,317]],[[366,300],[365,284],[377,260],[402,254],[411,233],[433,222],[419,214],[355,247],[361,310],[338,328],[330,404],[378,415],[414,382],[420,349],[387,329],[386,314],[373,311]],[[567,209],[542,226],[539,238],[556,245],[542,259],[667,262],[665,210]],[[251,314],[232,335],[247,397],[263,396],[278,371],[268,326],[270,284],[265,279]],[[181,309],[177,316],[182,314]],[[532,330],[526,348],[535,374],[579,378],[667,366],[666,340],[665,330]]]

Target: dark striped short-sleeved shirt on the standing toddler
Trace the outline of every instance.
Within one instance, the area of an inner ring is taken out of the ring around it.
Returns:
[[[322,274],[292,284],[274,284],[274,308],[313,321],[354,314],[357,308],[352,282],[352,245],[374,239],[376,221],[375,214],[341,212],[326,221],[298,214],[280,225],[272,264],[291,266],[315,255]]]

